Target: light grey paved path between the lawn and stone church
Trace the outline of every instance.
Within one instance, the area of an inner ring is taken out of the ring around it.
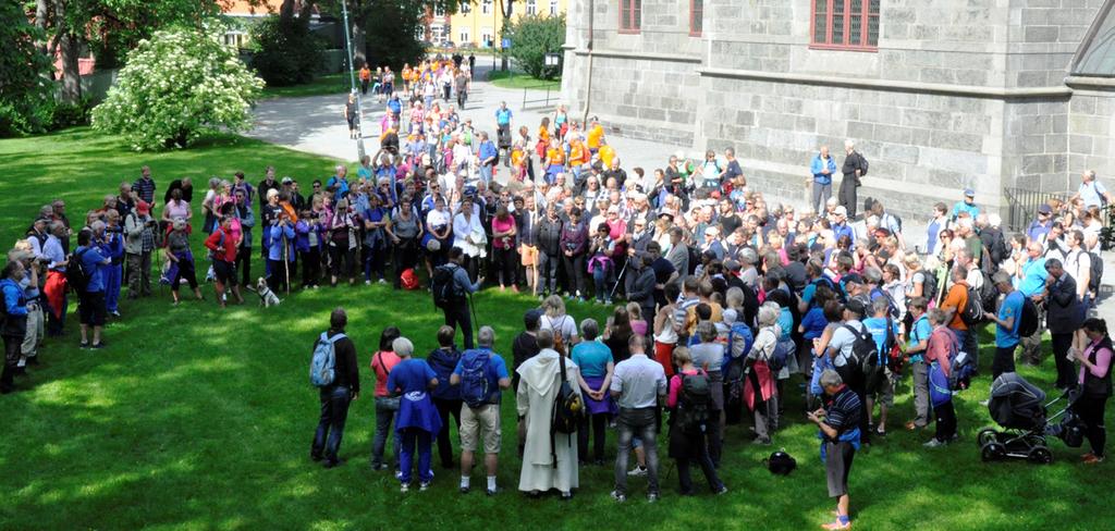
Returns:
[[[486,78],[492,69],[491,65],[485,65],[483,59],[477,60],[477,79]],[[468,101],[464,110],[459,111],[463,118],[471,118],[478,130],[495,131],[495,109],[500,101],[506,101],[514,112],[512,124],[517,129],[521,125],[526,125],[534,136],[539,122],[543,116],[550,116],[552,108],[523,109],[523,90],[504,89],[495,87],[487,81],[474,81],[473,91],[468,95]],[[357,160],[357,142],[348,138],[348,124],[343,118],[346,95],[336,96],[310,96],[304,98],[272,98],[261,101],[255,108],[255,129],[248,134],[249,137],[259,138],[264,141],[285,146],[299,151],[307,151],[317,155],[332,157],[338,160]],[[365,102],[365,128],[366,153],[375,154],[379,149],[379,119],[384,116],[382,104],[375,104],[374,99]],[[369,110],[371,109],[371,110]],[[578,117],[580,119],[580,117]],[[666,160],[670,154],[682,151],[687,156],[701,159],[701,154],[692,153],[691,149],[679,146],[666,146],[646,140],[634,140],[623,137],[609,136],[609,144],[615,147],[617,153],[623,160],[626,168],[641,166],[647,168],[648,176],[653,175],[653,168],[666,166]],[[746,173],[747,164],[744,161]],[[501,166],[501,175],[496,179],[505,183],[506,170]],[[803,167],[804,173],[807,171]],[[787,200],[788,199],[788,200]],[[793,197],[769,197],[770,201],[784,201],[801,204],[804,206],[805,198]],[[927,206],[927,217],[929,206]],[[920,219],[905,219],[904,223],[906,242],[909,245],[919,245],[925,248],[925,223]],[[1115,253],[1104,254],[1105,275],[1102,288],[1101,304],[1096,313],[1104,318],[1115,322],[1115,298],[1111,297],[1115,286],[1112,279],[1115,278]]]

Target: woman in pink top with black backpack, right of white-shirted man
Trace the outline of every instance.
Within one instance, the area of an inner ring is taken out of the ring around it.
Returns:
[[[692,417],[687,413],[686,407],[694,407],[690,403],[682,385],[686,378],[704,378],[705,387],[711,385],[708,374],[694,366],[692,356],[689,348],[679,346],[673,350],[673,364],[680,367],[678,374],[670,377],[669,394],[666,399],[666,407],[670,410],[670,456],[678,463],[678,481],[681,483],[681,495],[694,493],[694,482],[689,475],[689,464],[696,463],[705,472],[705,480],[708,481],[708,489],[716,494],[728,492],[728,489],[720,482],[712,466],[712,460],[708,455],[708,445],[705,441],[705,430],[702,426],[687,425],[687,420]],[[690,382],[692,384],[694,382]],[[695,385],[695,387],[697,387]],[[708,395],[705,396],[705,407],[711,406]],[[715,421],[714,421],[715,422]]]

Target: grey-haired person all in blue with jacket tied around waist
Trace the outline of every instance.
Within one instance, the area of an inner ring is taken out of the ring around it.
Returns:
[[[399,416],[395,430],[403,436],[403,449],[399,454],[400,490],[410,490],[414,473],[415,444],[418,445],[418,490],[425,491],[434,480],[430,470],[434,436],[442,431],[442,417],[427,390],[437,387],[437,374],[425,360],[414,360],[415,346],[410,340],[399,337],[391,343],[395,354],[403,361],[391,368],[387,377],[387,390],[391,394],[403,395],[399,401]]]

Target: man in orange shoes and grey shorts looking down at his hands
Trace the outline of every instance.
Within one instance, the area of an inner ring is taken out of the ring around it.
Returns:
[[[844,384],[833,370],[821,373],[821,386],[825,390],[825,407],[808,413],[811,422],[821,429],[821,458],[825,462],[828,496],[836,498],[836,520],[824,529],[849,529],[847,476],[852,471],[852,460],[860,448],[860,424],[863,404],[860,397]]]

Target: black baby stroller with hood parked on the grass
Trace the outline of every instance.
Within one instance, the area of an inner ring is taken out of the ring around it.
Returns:
[[[1068,405],[1047,415],[1049,406],[1066,397]],[[1009,458],[1048,464],[1053,462],[1053,452],[1046,445],[1047,435],[1060,439],[1068,446],[1078,448],[1084,442],[1084,429],[1080,419],[1072,411],[1078,397],[1078,392],[1069,391],[1045,402],[1046,394],[1040,389],[1017,373],[1004,373],[991,384],[988,410],[991,419],[1006,430],[986,427],[979,432],[976,440],[980,446],[980,456],[983,461]],[[1058,419],[1059,422],[1054,424]]]

